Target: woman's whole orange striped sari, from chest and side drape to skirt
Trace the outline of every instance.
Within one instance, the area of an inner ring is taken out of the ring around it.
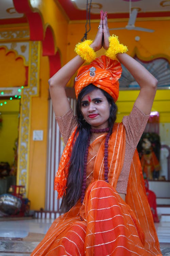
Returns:
[[[88,163],[94,161],[94,165],[92,172],[88,169],[90,184],[83,204],[79,200],[69,212],[55,219],[31,256],[162,255],[137,152],[131,165],[126,202],[116,191],[125,151],[122,123],[114,125],[109,140],[109,184],[104,181],[105,136],[99,140],[89,147]]]

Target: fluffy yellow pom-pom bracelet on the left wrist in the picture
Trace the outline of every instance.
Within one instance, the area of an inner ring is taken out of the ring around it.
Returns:
[[[92,40],[85,40],[82,43],[76,44],[74,49],[74,51],[88,63],[96,59],[96,53],[94,49],[90,47],[90,44],[92,44],[92,42]]]

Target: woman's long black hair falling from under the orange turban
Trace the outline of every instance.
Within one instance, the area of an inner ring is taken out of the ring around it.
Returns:
[[[66,195],[64,196],[61,203],[61,211],[67,212],[71,207],[79,200],[81,196],[82,180],[83,180],[83,170],[84,170],[84,155],[87,147],[87,140],[90,134],[90,125],[83,119],[81,112],[81,101],[86,94],[89,94],[91,91],[99,89],[93,84],[89,84],[87,87],[83,88],[78,96],[77,100],[77,117],[78,117],[78,129],[75,134],[79,132],[77,139],[73,145],[71,157],[70,157],[70,167],[69,175],[67,179],[67,189]],[[110,115],[108,118],[108,127],[109,132],[112,133],[113,125],[116,120],[117,114],[117,105],[115,104],[113,98],[102,91],[106,97],[110,107]]]

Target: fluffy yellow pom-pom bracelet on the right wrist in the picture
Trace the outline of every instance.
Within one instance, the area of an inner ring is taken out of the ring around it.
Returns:
[[[108,38],[109,47],[105,52],[105,55],[110,59],[116,59],[118,53],[125,53],[128,51],[128,47],[120,44],[119,39],[116,35],[110,35]]]

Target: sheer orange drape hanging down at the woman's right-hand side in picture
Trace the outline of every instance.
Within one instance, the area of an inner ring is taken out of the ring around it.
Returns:
[[[162,255],[159,248],[152,212],[146,195],[145,183],[137,150],[134,153],[131,164],[126,203],[132,208],[145,233],[146,250],[152,252],[153,255]]]

